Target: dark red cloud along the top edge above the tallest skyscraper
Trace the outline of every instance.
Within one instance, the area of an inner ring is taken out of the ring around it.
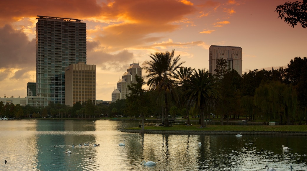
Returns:
[[[82,4],[82,5],[81,5]],[[3,23],[19,21],[23,17],[36,17],[37,15],[52,17],[87,18],[97,16],[102,7],[95,0],[2,0],[0,1],[0,26]],[[54,16],[54,15],[57,16]],[[81,18],[80,18],[81,19]]]

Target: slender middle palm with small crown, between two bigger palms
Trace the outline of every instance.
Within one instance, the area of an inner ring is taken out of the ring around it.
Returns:
[[[177,84],[179,85],[179,87],[181,88],[182,93],[185,92],[185,85],[188,84],[190,77],[192,76],[192,73],[194,71],[194,68],[191,69],[191,67],[181,67],[179,69],[179,71],[177,70],[177,74],[175,75],[174,78],[176,78]],[[182,100],[182,105],[186,108],[185,112],[186,112],[186,116],[188,116],[188,125],[190,125],[190,116],[189,116],[189,108],[188,108],[188,99],[185,98],[184,96],[182,96],[182,98],[186,99],[186,100]]]

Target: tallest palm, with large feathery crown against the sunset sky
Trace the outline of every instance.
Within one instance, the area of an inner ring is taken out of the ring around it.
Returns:
[[[143,69],[146,70],[148,78],[147,85],[157,93],[157,104],[161,105],[165,115],[165,126],[168,127],[169,105],[172,99],[178,99],[175,89],[174,75],[177,68],[185,62],[179,62],[180,55],[174,57],[175,50],[171,53],[155,52],[150,54],[150,61],[145,61]]]

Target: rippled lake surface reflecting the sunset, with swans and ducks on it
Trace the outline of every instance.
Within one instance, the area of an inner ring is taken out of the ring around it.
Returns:
[[[290,170],[292,165],[293,170],[307,171],[306,136],[243,135],[238,138],[235,135],[144,135],[120,131],[137,127],[139,122],[1,120],[0,170],[253,171],[265,170],[265,165]],[[118,146],[124,140],[126,146]],[[87,142],[90,146],[78,146]],[[202,146],[198,146],[198,142]],[[282,150],[283,144],[291,150]],[[67,149],[72,154],[66,154]],[[158,163],[143,166],[140,165],[143,160]]]

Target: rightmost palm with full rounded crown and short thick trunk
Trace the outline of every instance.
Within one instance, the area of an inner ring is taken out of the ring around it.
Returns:
[[[215,108],[221,99],[218,90],[218,83],[209,71],[205,69],[195,70],[186,84],[186,95],[189,99],[190,106],[195,106],[200,111],[200,126],[205,127],[204,112],[208,112],[211,108]]]

